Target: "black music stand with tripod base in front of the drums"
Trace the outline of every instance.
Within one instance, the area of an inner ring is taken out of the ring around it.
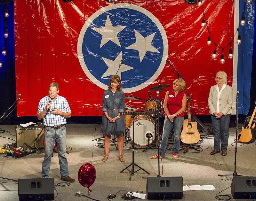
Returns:
[[[131,115],[132,117],[132,163],[125,167],[120,173],[122,173],[124,170],[128,170],[131,174],[130,174],[130,179],[132,179],[132,174],[134,174],[135,172],[138,172],[139,170],[143,170],[144,172],[146,172],[147,174],[149,174],[149,172],[147,172],[146,170],[144,170],[142,167],[138,166],[136,163],[134,163],[134,117],[135,115],[147,115],[147,112],[121,112],[121,115]],[[132,169],[129,170],[128,167],[132,166]],[[139,167],[140,169],[136,170],[134,172],[134,166]]]

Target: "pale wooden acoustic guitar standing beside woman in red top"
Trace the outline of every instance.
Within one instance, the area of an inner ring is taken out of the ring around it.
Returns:
[[[191,122],[190,100],[190,95],[188,94],[188,119],[183,121],[183,129],[180,134],[180,139],[185,144],[195,144],[200,140],[200,133],[197,130],[197,122]]]

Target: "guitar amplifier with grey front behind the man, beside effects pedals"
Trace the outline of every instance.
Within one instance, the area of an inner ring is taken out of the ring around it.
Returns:
[[[36,126],[28,126],[26,128],[22,126],[16,126],[16,146],[24,147],[23,143],[27,143],[31,147],[44,148],[43,140],[44,140],[44,131],[39,135],[36,140],[37,135],[41,132],[43,127]]]

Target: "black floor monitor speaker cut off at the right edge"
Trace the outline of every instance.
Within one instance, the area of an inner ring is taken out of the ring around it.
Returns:
[[[255,199],[256,177],[234,176],[231,183],[231,195],[235,199]]]

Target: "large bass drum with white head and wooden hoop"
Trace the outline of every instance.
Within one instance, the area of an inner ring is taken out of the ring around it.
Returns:
[[[157,135],[155,134],[155,122],[152,117],[147,115],[137,115],[134,117],[134,143],[140,146],[148,145],[148,135],[152,137],[149,138],[149,144],[151,144]],[[132,120],[129,126],[129,136],[132,140],[133,128],[132,128]]]

